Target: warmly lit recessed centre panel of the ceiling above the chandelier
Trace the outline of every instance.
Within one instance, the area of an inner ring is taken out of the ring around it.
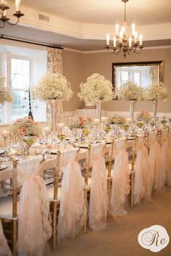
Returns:
[[[96,24],[122,22],[121,0],[22,0],[22,5],[70,20]],[[137,25],[171,21],[171,0],[129,0],[126,4],[130,23]]]

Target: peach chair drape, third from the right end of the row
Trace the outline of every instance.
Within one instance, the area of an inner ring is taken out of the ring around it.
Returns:
[[[150,166],[148,150],[143,135],[139,135],[136,145],[135,173],[133,183],[133,202],[138,204],[141,199],[149,199]]]

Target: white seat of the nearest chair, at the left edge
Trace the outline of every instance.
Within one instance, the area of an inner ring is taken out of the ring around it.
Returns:
[[[0,218],[12,220],[12,197],[2,197],[0,199]],[[19,213],[20,203],[17,202],[17,215]]]

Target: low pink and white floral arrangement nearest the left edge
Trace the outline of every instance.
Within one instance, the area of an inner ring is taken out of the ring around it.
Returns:
[[[9,128],[9,132],[14,137],[39,136],[41,127],[32,117],[23,117],[17,119]]]

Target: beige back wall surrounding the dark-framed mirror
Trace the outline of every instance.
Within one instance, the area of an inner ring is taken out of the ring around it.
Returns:
[[[75,92],[72,100],[64,104],[64,110],[70,111],[83,106],[78,96],[80,82],[86,81],[88,75],[99,73],[112,81],[113,62],[145,62],[145,61],[164,61],[164,83],[169,89],[170,99],[167,102],[159,103],[159,112],[171,112],[171,49],[144,49],[141,54],[131,54],[124,57],[120,54],[116,56],[107,52],[91,54],[81,54],[74,51],[64,50],[64,75],[70,80],[73,91]],[[128,102],[111,101],[104,104],[108,111],[128,111]],[[135,111],[152,111],[151,102],[138,102]]]

